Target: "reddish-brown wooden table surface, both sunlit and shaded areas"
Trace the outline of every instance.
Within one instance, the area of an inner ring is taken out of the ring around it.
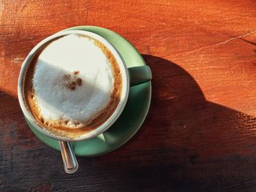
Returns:
[[[34,136],[17,99],[40,40],[102,26],[153,72],[151,108],[126,145],[78,158]],[[256,191],[256,1],[0,1],[0,191]]]

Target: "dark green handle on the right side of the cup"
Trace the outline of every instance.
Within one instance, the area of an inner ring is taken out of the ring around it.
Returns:
[[[130,87],[152,80],[149,66],[133,66],[128,68]]]

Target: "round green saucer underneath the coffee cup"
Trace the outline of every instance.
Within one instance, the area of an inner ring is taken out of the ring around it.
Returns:
[[[108,39],[121,53],[127,67],[146,65],[140,53],[126,39],[106,28],[95,26],[78,26],[67,30],[91,31]],[[124,145],[138,131],[146,118],[151,101],[151,82],[136,85],[129,90],[127,105],[116,122],[98,137],[82,141],[72,142],[75,154],[78,156],[97,156],[116,150]],[[46,145],[59,150],[59,142],[56,139],[41,134],[29,123],[34,134]]]

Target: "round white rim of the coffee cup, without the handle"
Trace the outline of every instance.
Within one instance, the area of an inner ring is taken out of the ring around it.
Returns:
[[[34,115],[30,112],[29,107],[26,104],[26,98],[24,95],[24,86],[23,86],[27,69],[31,64],[31,60],[38,53],[38,51],[41,50],[46,45],[48,45],[50,41],[57,39],[59,37],[67,36],[69,34],[82,34],[82,35],[86,35],[91,38],[97,39],[99,42],[102,42],[102,44],[108,47],[110,52],[113,53],[122,74],[122,93],[121,93],[121,99],[119,101],[118,106],[116,107],[116,110],[113,112],[112,115],[110,115],[110,118],[108,118],[108,120],[106,120],[105,123],[102,123],[98,128],[95,128],[94,131],[91,131],[86,134],[82,134],[79,137],[74,137],[74,138],[53,134],[47,128],[44,128],[37,122],[36,118],[34,118]],[[121,112],[124,110],[124,106],[127,103],[128,95],[129,95],[129,74],[128,74],[128,69],[124,62],[124,59],[121,57],[121,54],[118,53],[118,50],[116,50],[116,47],[114,47],[107,39],[91,31],[83,31],[83,30],[60,31],[56,34],[46,37],[41,42],[39,42],[26,56],[26,59],[23,61],[23,64],[21,66],[20,74],[18,77],[18,101],[20,103],[21,110],[25,115],[25,118],[29,120],[29,123],[31,123],[31,125],[34,126],[34,128],[36,128],[37,131],[41,132],[42,134],[45,134],[50,138],[58,139],[66,142],[79,142],[79,141],[91,139],[93,137],[97,137],[99,134],[102,134],[104,131],[110,128],[110,126],[112,126],[113,123],[116,122],[116,120],[121,115]]]

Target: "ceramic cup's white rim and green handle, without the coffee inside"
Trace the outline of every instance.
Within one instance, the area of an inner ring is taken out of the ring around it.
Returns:
[[[50,131],[48,131],[48,129],[45,129],[44,127],[42,127],[37,122],[36,118],[34,118],[34,116],[29,111],[29,107],[26,104],[26,99],[24,96],[24,83],[25,83],[24,80],[26,77],[26,72],[28,71],[29,65],[32,59],[34,58],[34,56],[39,52],[39,50],[45,47],[45,45],[48,45],[50,41],[59,37],[64,37],[65,35],[68,35],[68,34],[87,35],[89,37],[97,39],[98,41],[102,42],[106,47],[108,47],[110,52],[113,53],[116,60],[118,61],[119,67],[121,69],[122,80],[123,80],[121,101],[118,104],[116,111],[113,112],[113,115],[111,115],[110,118],[108,118],[108,120],[106,120],[105,123],[103,123],[101,126],[99,126],[98,128],[95,128],[94,131],[91,131],[88,134],[83,134],[80,137],[76,137],[72,139],[53,134]],[[124,59],[121,57],[121,54],[118,53],[118,50],[116,50],[116,48],[113,45],[111,45],[111,43],[108,42],[107,39],[99,36],[98,34],[94,34],[89,31],[82,31],[82,30],[61,31],[57,34],[53,34],[52,36],[47,37],[46,39],[42,40],[42,42],[39,42],[39,44],[36,45],[31,50],[29,55],[26,57],[20,69],[20,75],[18,78],[18,100],[26,120],[37,131],[53,139],[67,141],[67,142],[78,142],[78,141],[91,139],[93,137],[97,137],[99,134],[102,134],[102,132],[106,131],[110,126],[112,126],[113,123],[115,123],[118,117],[121,115],[121,112],[124,110],[124,107],[127,104],[127,98],[128,98],[130,86],[138,85],[140,83],[150,81],[151,78],[152,78],[151,69],[148,66],[134,66],[134,67],[127,68],[127,65],[124,63]]]

